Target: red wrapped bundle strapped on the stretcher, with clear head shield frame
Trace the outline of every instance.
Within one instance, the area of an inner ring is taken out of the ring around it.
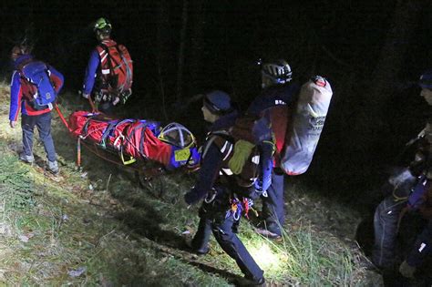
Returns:
[[[200,162],[195,138],[178,123],[161,128],[157,121],[76,111],[69,117],[69,128],[75,137],[97,143],[101,149],[118,151],[122,159],[124,155],[150,159],[166,169],[195,167]]]

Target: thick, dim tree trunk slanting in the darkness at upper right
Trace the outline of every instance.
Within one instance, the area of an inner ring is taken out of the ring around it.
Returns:
[[[398,0],[393,18],[390,21],[386,40],[382,46],[380,56],[372,72],[371,87],[365,95],[365,107],[357,118],[363,118],[364,148],[372,159],[382,159],[385,156],[386,142],[384,138],[392,138],[389,134],[394,110],[391,97],[395,95],[399,74],[406,60],[406,52],[413,41],[412,35],[419,20],[419,12],[429,0]]]

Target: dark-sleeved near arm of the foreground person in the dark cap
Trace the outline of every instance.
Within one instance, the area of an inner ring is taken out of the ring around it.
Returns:
[[[205,198],[219,176],[221,162],[221,151],[214,144],[211,144],[205,155],[205,160],[202,162],[196,185],[184,195],[187,204],[194,204]]]

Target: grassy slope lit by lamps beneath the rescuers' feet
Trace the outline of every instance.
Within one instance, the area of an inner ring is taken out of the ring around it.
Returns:
[[[21,131],[8,127],[9,92],[6,84],[0,89],[0,282],[226,286],[241,275],[215,241],[207,256],[184,251],[182,242],[198,223],[197,207],[188,210],[181,200],[193,175],[165,175],[139,188],[133,173],[86,150],[83,170],[77,170],[76,142],[56,117],[53,133],[62,169],[59,177],[49,176],[39,142],[36,166],[16,160]],[[68,103],[63,109],[68,115],[79,105]],[[353,240],[359,216],[316,198],[301,182],[290,183],[287,190],[283,242],[262,239],[242,220],[242,241],[267,281],[375,284]]]

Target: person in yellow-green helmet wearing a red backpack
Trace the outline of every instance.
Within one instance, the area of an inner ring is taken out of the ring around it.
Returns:
[[[107,61],[120,61],[119,59],[111,59],[111,55],[108,53],[110,51],[108,48],[110,46],[118,46],[111,38],[111,23],[106,18],[99,18],[93,30],[95,32],[96,38],[98,40],[98,46],[91,52],[90,58],[88,60],[86,75],[84,77],[84,84],[82,89],[82,96],[87,98],[90,102],[91,108],[101,111],[106,114],[113,112],[115,106],[121,102],[126,102],[130,97],[132,91],[128,88],[126,91],[118,92],[118,83],[112,83],[110,78],[110,73],[113,73],[108,67],[111,65],[107,64]],[[132,82],[132,70],[131,70],[131,60],[129,57],[129,52],[124,46],[125,55],[128,58],[129,65],[121,67],[122,72],[126,74],[127,85],[131,85]],[[118,55],[118,54],[117,54]],[[104,66],[102,67],[102,64]],[[123,71],[123,69],[126,69]]]

